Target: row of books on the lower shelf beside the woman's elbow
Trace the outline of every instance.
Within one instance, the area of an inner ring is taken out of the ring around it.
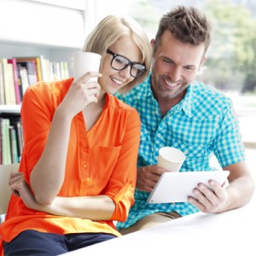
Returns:
[[[20,162],[24,146],[20,117],[0,118],[0,164]]]

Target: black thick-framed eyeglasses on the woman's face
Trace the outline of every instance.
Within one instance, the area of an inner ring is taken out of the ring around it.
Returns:
[[[142,76],[143,73],[147,70],[145,65],[138,63],[138,62],[132,62],[122,55],[117,55],[117,54],[113,53],[113,51],[110,49],[107,49],[107,53],[109,55],[113,55],[113,59],[110,62],[110,66],[114,70],[120,71],[120,70],[124,70],[126,67],[131,66],[130,74],[133,78],[136,78],[136,79],[139,78],[140,76]]]

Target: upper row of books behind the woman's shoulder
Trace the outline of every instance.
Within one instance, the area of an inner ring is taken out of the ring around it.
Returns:
[[[0,105],[20,104],[26,88],[38,81],[69,77],[67,61],[49,61],[44,55],[0,59]]]

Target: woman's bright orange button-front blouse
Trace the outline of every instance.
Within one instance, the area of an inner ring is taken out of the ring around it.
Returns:
[[[39,82],[26,90],[20,113],[25,142],[20,172],[25,173],[27,183],[44,150],[55,109],[72,83],[73,78]],[[115,96],[107,95],[102,115],[88,132],[83,114],[78,113],[71,125],[65,180],[58,195],[108,195],[115,203],[111,220],[92,221],[34,211],[20,197],[12,195],[6,220],[0,227],[3,241],[11,241],[23,230],[55,234],[104,232],[120,236],[113,220],[125,221],[134,203],[139,136],[137,110]]]

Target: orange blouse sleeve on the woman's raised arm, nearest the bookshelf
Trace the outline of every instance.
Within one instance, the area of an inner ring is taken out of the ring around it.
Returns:
[[[44,83],[27,88],[21,107],[21,122],[23,128],[24,149],[20,164],[26,166],[24,174],[29,183],[29,175],[33,166],[43,153],[49,135],[53,117],[52,97]]]

